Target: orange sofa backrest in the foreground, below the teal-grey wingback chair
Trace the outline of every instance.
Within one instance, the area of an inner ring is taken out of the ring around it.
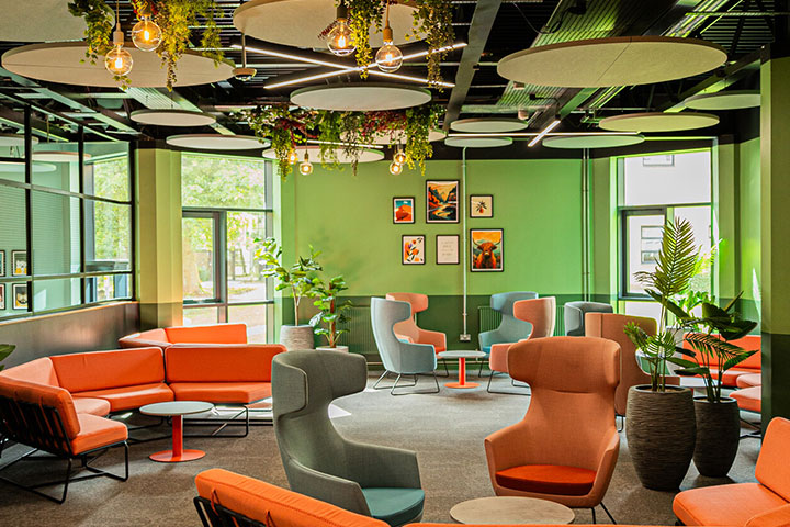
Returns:
[[[260,480],[223,469],[195,478],[198,493],[225,508],[276,527],[388,527],[362,516]]]

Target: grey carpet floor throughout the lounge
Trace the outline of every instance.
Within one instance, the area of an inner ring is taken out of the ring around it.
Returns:
[[[496,380],[495,384],[501,389],[510,388],[505,379]],[[419,386],[430,388],[431,383],[421,379]],[[484,385],[469,391],[442,386],[439,394],[397,397],[386,391],[368,390],[338,400],[336,405],[351,415],[337,417],[334,422],[350,438],[416,450],[426,491],[424,520],[452,523],[449,511],[456,503],[494,495],[483,439],[521,419],[528,404],[527,396],[488,394]],[[620,524],[674,525],[674,494],[640,485],[624,433],[621,439],[620,458],[605,503]],[[76,482],[64,505],[0,483],[0,526],[198,527],[200,520],[192,505],[193,480],[203,470],[218,467],[275,485],[287,485],[271,427],[255,427],[246,438],[192,438],[185,442],[187,448],[203,449],[206,456],[189,463],[162,464],[150,461],[147,456],[169,448],[168,439],[133,445],[127,482],[104,478]],[[730,479],[702,478],[691,467],[681,489],[755,481],[754,466],[759,446],[757,439],[741,441]],[[23,451],[19,446],[13,447],[3,453],[0,463],[7,463]],[[119,471],[122,459],[121,451],[113,451],[97,466]],[[18,463],[4,474],[30,481],[32,478],[52,478],[60,467],[48,462]],[[600,509],[598,513],[598,519],[602,522],[606,516]],[[577,512],[575,523],[590,522],[589,511]]]

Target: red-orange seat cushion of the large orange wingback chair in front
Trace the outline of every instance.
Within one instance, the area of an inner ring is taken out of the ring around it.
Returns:
[[[561,464],[523,464],[496,473],[499,485],[523,492],[584,496],[592,489],[595,471]]]

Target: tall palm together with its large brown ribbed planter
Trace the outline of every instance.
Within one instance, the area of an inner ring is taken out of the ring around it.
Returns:
[[[693,394],[689,389],[667,385],[666,377],[667,362],[677,352],[674,332],[667,327],[667,313],[675,305],[669,299],[688,289],[697,258],[691,225],[680,218],[667,221],[655,269],[634,276],[661,304],[655,335],[647,335],[635,324],[625,326],[643,369],[651,375],[650,385],[629,390],[625,419],[625,436],[636,475],[647,489],[678,489],[695,450]]]

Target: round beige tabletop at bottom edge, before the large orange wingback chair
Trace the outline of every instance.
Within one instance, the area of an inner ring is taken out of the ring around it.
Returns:
[[[564,525],[576,515],[565,505],[549,500],[492,496],[461,502],[450,509],[450,517],[459,524]]]

